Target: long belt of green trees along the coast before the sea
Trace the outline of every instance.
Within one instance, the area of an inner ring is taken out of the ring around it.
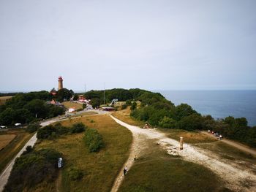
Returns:
[[[86,99],[91,99],[94,106],[104,103],[104,91],[89,91]],[[152,126],[161,128],[181,128],[188,131],[213,130],[224,137],[243,142],[256,147],[256,126],[248,126],[246,118],[233,118],[231,116],[214,120],[211,115],[201,115],[189,104],[175,106],[160,93],[153,93],[138,88],[115,88],[105,91],[105,102],[112,99],[127,101],[125,106],[131,105],[131,116],[137,120],[148,121]],[[140,107],[135,102],[140,101]]]

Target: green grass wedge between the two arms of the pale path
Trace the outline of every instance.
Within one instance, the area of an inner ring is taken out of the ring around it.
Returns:
[[[223,191],[223,183],[204,166],[167,155],[149,144],[148,152],[135,161],[119,191]]]

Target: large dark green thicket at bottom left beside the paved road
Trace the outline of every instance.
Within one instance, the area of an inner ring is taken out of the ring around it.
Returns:
[[[27,147],[27,151],[16,159],[4,191],[29,191],[43,180],[52,182],[58,173],[56,164],[60,157],[61,153],[53,149],[34,151]]]

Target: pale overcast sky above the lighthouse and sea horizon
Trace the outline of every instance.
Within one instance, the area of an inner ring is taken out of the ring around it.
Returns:
[[[256,1],[1,0],[0,92],[256,89]]]

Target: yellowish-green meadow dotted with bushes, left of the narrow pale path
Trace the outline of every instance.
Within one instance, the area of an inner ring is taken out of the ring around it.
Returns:
[[[56,183],[41,183],[35,191],[110,191],[116,175],[127,160],[132,134],[115,123],[108,115],[95,115],[90,117],[65,120],[64,126],[83,122],[89,128],[97,128],[105,142],[105,147],[99,153],[89,153],[83,144],[84,133],[72,134],[53,141],[44,140],[36,145],[36,150],[43,147],[53,147],[64,154],[64,169],[61,178]],[[93,123],[91,123],[93,122]],[[69,180],[67,169],[77,166],[83,170],[84,177],[80,181]],[[59,184],[58,182],[61,182]]]

